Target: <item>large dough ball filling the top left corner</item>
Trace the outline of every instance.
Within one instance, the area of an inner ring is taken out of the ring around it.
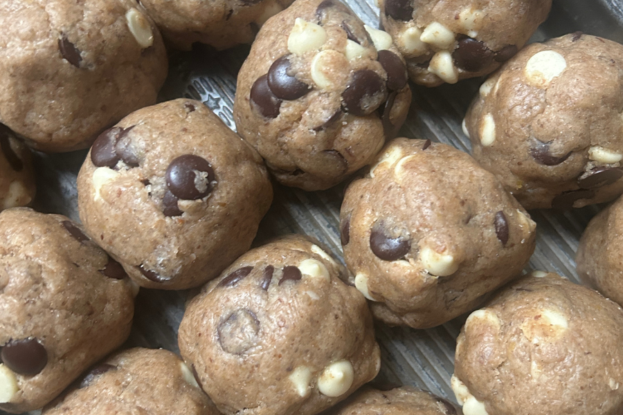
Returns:
[[[0,0],[0,122],[42,151],[88,147],[156,102],[167,56],[134,0]]]

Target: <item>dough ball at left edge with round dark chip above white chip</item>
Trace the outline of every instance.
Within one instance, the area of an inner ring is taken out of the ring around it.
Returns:
[[[57,214],[0,213],[0,409],[55,398],[129,335],[136,285]]]

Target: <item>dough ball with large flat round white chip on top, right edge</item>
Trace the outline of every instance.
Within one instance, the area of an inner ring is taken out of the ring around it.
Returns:
[[[471,103],[473,156],[524,208],[581,208],[623,192],[623,46],[573,33],[527,46]]]

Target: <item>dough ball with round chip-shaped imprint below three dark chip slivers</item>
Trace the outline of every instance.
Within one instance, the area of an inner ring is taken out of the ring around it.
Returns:
[[[188,305],[179,349],[226,415],[312,415],[379,372],[365,298],[316,243],[247,252]]]

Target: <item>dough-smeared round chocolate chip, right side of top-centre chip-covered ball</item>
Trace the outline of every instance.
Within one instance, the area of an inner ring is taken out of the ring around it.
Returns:
[[[342,93],[344,111],[354,116],[367,116],[379,108],[385,95],[383,79],[370,69],[361,69],[352,74],[352,80]]]

